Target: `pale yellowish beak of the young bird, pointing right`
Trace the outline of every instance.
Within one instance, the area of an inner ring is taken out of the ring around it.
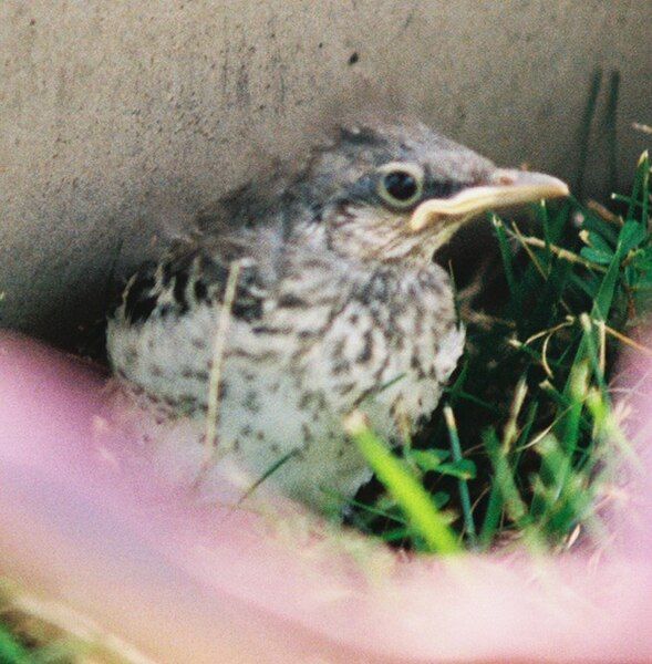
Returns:
[[[418,232],[437,221],[465,221],[486,210],[568,196],[568,185],[542,173],[499,168],[491,178],[451,198],[424,200],[412,214],[410,229]]]

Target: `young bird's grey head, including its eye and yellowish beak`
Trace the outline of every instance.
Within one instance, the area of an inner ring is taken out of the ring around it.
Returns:
[[[561,180],[498,168],[423,124],[341,129],[292,187],[302,232],[341,256],[382,263],[432,259],[486,210],[568,195]],[[307,217],[303,216],[303,219]]]

